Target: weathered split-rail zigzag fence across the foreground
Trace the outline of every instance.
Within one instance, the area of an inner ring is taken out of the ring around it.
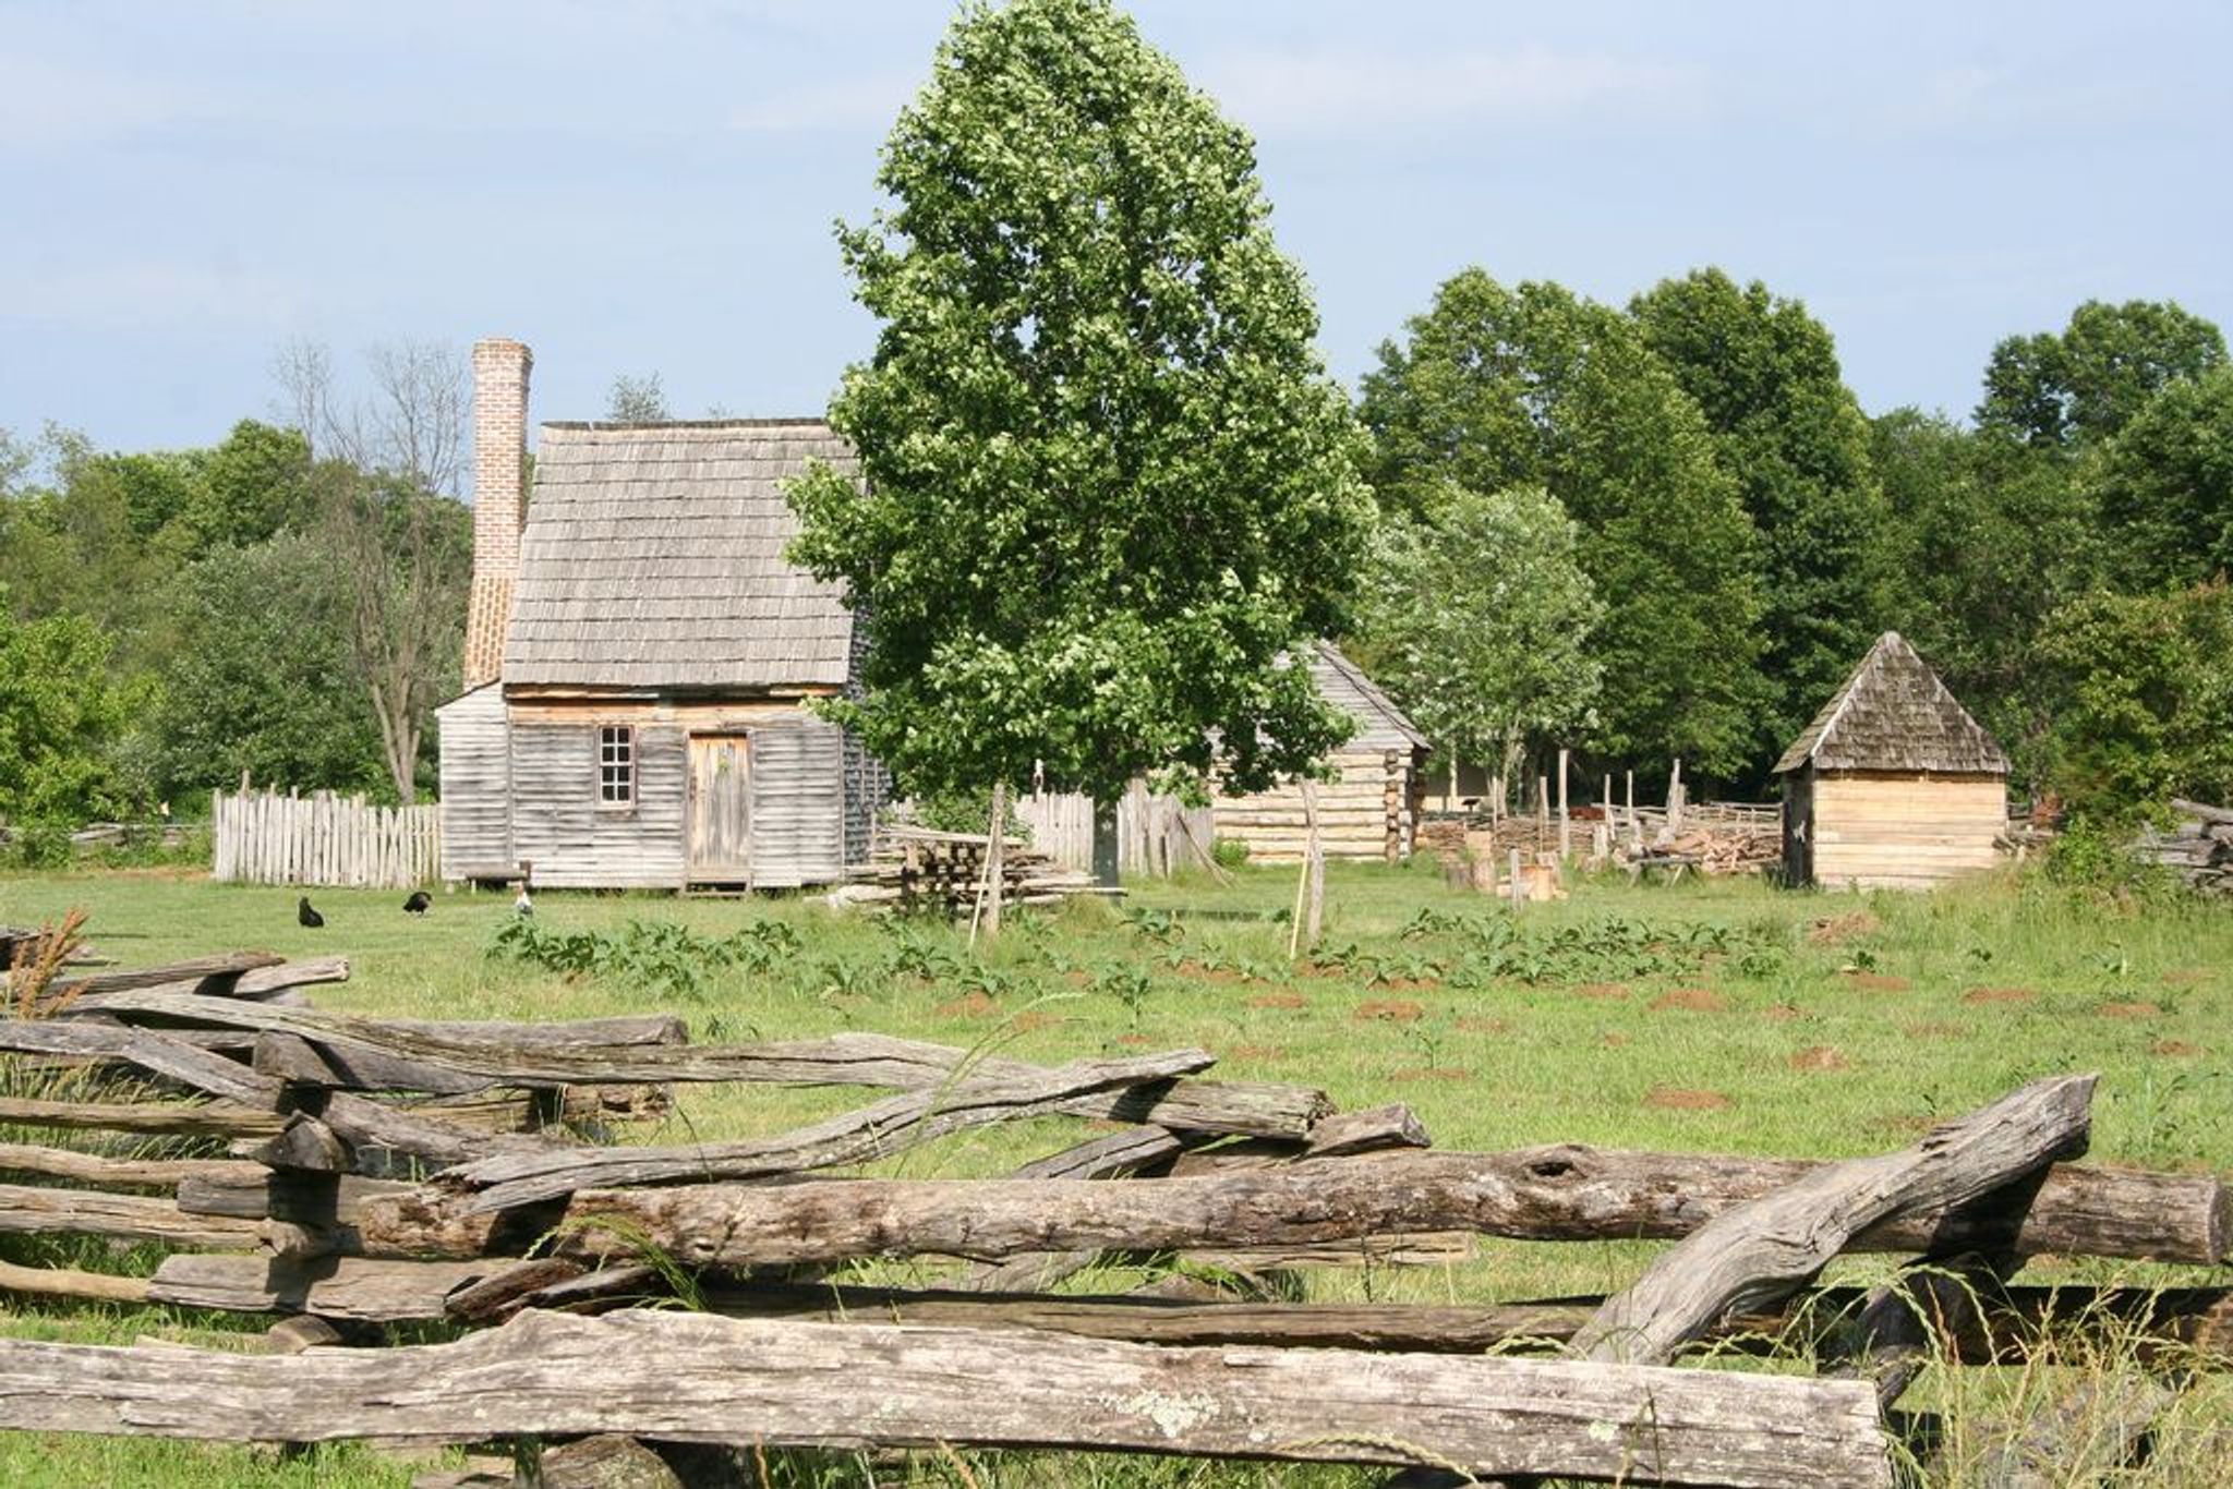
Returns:
[[[2043,1252],[2226,1259],[2233,1205],[2215,1176],[2070,1161],[2092,1076],[2039,1080],[1869,1159],[1469,1154],[1431,1147],[1405,1107],[1338,1112],[1309,1087],[1215,1080],[1195,1049],[1041,1067],[869,1034],[690,1045],[659,1016],[424,1022],[304,1002],[339,976],[210,958],[96,973],[51,1016],[0,1020],[7,1058],[80,1067],[69,1101],[0,1118],[228,1143],[0,1145],[0,1232],[170,1250],[152,1277],[4,1266],[0,1288],[279,1319],[266,1357],[4,1339],[0,1426],[525,1438],[547,1444],[552,1482],[563,1456],[715,1482],[692,1478],[692,1453],[942,1442],[1384,1464],[1405,1482],[1844,1487],[1891,1485],[1907,1426],[1929,1442],[1929,1422],[1889,1413],[1925,1360],[1925,1306],[1961,1364],[2023,1357],[2052,1324],[2150,1337],[2186,1373],[2233,1366],[2226,1288],[2010,1281]],[[107,1089],[112,1076],[127,1085]],[[887,1094],[719,1143],[610,1145],[578,1121],[625,1107],[612,1092],[681,1083]],[[1005,1179],[855,1176],[1054,1114],[1101,1130]],[[1275,1272],[1447,1264],[1480,1235],[1677,1243],[1601,1299],[1273,1301]],[[1813,1286],[1862,1250],[1918,1264],[1882,1288]],[[891,1257],[947,1281],[833,1270]],[[1201,1259],[1233,1281],[1047,1293],[1103,1257]],[[1961,1288],[1934,1281],[1949,1268]],[[688,1310],[661,1306],[679,1295]],[[364,1348],[424,1322],[476,1333]],[[1726,1368],[1769,1339],[1777,1371]],[[1681,1364],[1708,1348],[1724,1368]],[[1795,1373],[1791,1351],[1818,1371]],[[2135,1400],[2150,1411],[2173,1400],[2148,1391]]]

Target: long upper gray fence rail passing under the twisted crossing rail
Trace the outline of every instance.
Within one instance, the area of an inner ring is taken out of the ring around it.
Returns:
[[[348,1049],[366,1049],[440,1065],[491,1083],[525,1085],[755,1080],[927,1089],[949,1083],[965,1067],[985,1078],[1020,1076],[1034,1069],[1018,1060],[978,1060],[967,1049],[878,1034],[840,1034],[824,1040],[768,1045],[523,1047],[509,1034],[514,1025],[500,1025],[489,1036],[467,1038],[313,1009],[275,1009],[230,1000],[221,1005],[217,1000],[194,1002],[176,993],[121,993],[107,1005],[107,1011],[185,1018],[230,1029],[277,1029],[297,1034],[322,1049],[330,1047],[344,1058]],[[1293,1085],[1177,1080],[1168,1087],[1079,1096],[1063,1109],[1072,1116],[1157,1123],[1192,1132],[1304,1139],[1313,1123],[1333,1109],[1333,1103],[1326,1101],[1324,1092]]]

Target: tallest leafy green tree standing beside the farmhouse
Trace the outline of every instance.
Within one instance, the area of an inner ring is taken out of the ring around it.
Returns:
[[[967,4],[840,234],[875,355],[790,489],[916,792],[1262,784],[1346,734],[1282,654],[1340,627],[1360,435],[1248,136],[1105,0]]]

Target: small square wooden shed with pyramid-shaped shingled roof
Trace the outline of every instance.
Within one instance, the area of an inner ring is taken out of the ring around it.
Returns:
[[[1932,888],[1999,859],[2007,755],[1898,632],[1885,632],[1775,761],[1784,875]]]

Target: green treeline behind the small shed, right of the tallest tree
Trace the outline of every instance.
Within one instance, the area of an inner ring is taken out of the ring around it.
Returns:
[[[2233,797],[2233,368],[2173,304],[2012,335],[1970,422],[1869,417],[1800,301],[1449,279],[1364,377],[1360,645],[1463,759],[1762,790],[1882,630],[2092,810]]]

